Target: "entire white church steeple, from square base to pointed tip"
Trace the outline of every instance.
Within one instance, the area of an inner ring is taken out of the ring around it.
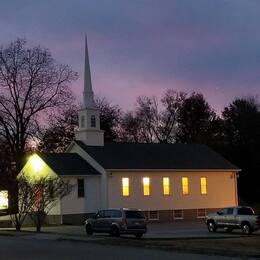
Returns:
[[[100,130],[100,110],[95,104],[92,90],[87,37],[85,37],[83,107],[79,110],[79,130],[76,132],[76,140],[86,145],[104,145],[104,131]]]

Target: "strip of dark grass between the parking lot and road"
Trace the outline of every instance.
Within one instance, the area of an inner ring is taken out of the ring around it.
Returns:
[[[241,256],[260,258],[260,236],[203,239],[106,239],[101,244],[135,246],[209,255]]]

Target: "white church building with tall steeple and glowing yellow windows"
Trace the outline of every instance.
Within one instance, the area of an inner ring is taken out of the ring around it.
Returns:
[[[82,224],[99,209],[122,207],[139,208],[150,221],[176,221],[238,205],[239,169],[205,145],[104,143],[85,44],[76,138],[66,153],[35,155],[47,171],[74,184],[50,212],[53,221]]]

